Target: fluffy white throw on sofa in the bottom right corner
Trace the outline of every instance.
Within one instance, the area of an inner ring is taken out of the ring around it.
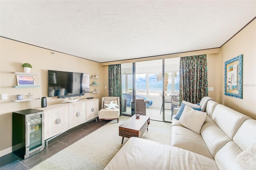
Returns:
[[[256,143],[238,154],[236,161],[245,170],[256,170]]]

